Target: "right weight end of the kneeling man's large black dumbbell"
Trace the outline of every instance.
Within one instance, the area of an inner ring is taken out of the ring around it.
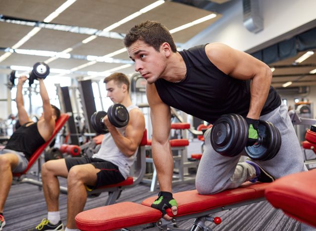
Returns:
[[[246,154],[254,160],[269,160],[276,156],[281,147],[281,135],[270,122],[259,120],[258,135],[261,141],[253,146],[245,147]]]

